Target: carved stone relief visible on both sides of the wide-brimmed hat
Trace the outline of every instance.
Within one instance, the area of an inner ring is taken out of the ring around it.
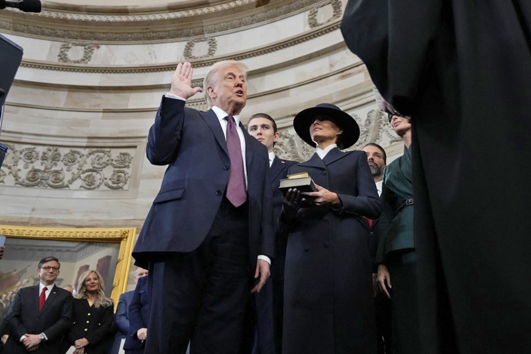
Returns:
[[[370,110],[363,120],[357,114],[350,115],[358,123],[360,133],[356,144],[345,151],[360,150],[367,143],[378,143],[385,147],[401,141],[389,125],[387,115],[380,110]],[[303,162],[309,160],[314,153],[315,148],[302,141],[293,128],[281,131],[280,139],[275,144],[275,154],[282,159]]]

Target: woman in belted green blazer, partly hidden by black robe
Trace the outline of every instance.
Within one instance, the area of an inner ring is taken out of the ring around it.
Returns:
[[[383,174],[382,215],[378,223],[378,282],[391,298],[395,354],[419,353],[417,256],[413,230],[411,124],[408,117],[389,116],[394,131],[404,140],[404,155]]]

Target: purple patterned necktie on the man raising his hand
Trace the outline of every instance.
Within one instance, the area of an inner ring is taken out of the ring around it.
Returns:
[[[245,191],[245,172],[243,170],[242,145],[239,143],[236,122],[233,116],[226,116],[227,120],[227,151],[230,159],[229,182],[227,183],[227,199],[234,206],[240,206],[247,201]]]

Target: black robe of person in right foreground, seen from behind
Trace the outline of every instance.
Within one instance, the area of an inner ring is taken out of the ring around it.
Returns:
[[[531,352],[531,2],[350,0],[341,31],[413,117],[422,352]]]

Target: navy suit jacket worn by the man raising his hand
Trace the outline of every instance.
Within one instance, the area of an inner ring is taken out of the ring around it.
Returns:
[[[147,157],[169,165],[133,250],[136,265],[165,252],[191,252],[207,236],[223,198],[230,171],[227,142],[216,114],[162,97],[149,131]],[[273,258],[272,195],[267,148],[246,132],[250,261]]]

